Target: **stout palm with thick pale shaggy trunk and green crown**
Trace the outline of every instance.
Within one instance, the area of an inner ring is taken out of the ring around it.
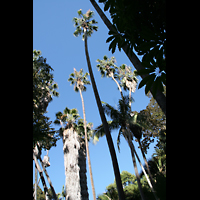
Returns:
[[[62,126],[59,132],[63,138],[66,199],[88,200],[82,119],[77,109],[67,107],[63,113],[57,112],[56,118],[54,123]]]

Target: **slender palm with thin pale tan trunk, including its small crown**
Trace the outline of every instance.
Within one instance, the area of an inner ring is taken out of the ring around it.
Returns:
[[[95,188],[94,188],[94,181],[93,181],[93,176],[92,176],[92,167],[91,167],[91,162],[90,162],[90,154],[89,154],[89,145],[88,145],[88,138],[87,138],[87,124],[86,124],[86,117],[85,117],[85,106],[84,106],[84,100],[83,100],[83,95],[82,91],[86,91],[85,85],[90,84],[90,81],[87,80],[87,76],[89,74],[86,72],[83,74],[83,69],[81,69],[79,72],[76,71],[74,68],[74,73],[70,74],[70,78],[68,81],[71,82],[70,85],[74,85],[74,90],[76,92],[80,92],[81,96],[81,101],[82,101],[82,107],[83,107],[83,119],[84,119],[84,132],[85,132],[85,144],[86,144],[86,152],[87,152],[87,158],[88,158],[88,165],[89,165],[89,172],[90,172],[90,181],[92,185],[92,194],[93,194],[93,199],[96,200],[96,194],[95,194]]]

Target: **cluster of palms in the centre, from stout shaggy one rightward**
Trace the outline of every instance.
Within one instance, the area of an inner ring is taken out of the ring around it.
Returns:
[[[105,102],[102,102],[99,97],[99,93],[93,76],[87,44],[88,36],[91,36],[91,34],[98,29],[98,27],[95,25],[97,24],[97,22],[92,19],[94,15],[93,11],[88,10],[86,14],[83,14],[82,10],[80,9],[78,10],[78,15],[79,18],[73,18],[76,27],[74,36],[83,34],[82,39],[84,40],[85,54],[89,73],[86,72],[84,74],[83,69],[77,71],[74,68],[74,72],[70,74],[70,78],[68,79],[68,81],[71,82],[71,85],[74,85],[74,90],[80,93],[83,108],[83,119],[81,119],[77,109],[69,109],[68,107],[66,107],[63,112],[56,113],[56,120],[54,121],[55,124],[61,126],[61,128],[59,129],[59,133],[63,139],[64,165],[66,175],[66,199],[88,199],[86,157],[88,159],[93,199],[96,199],[88,141],[90,139],[98,141],[99,138],[103,137],[104,135],[106,136],[111,154],[119,199],[125,199],[119,166],[116,158],[116,152],[110,134],[110,132],[114,129],[119,129],[117,140],[118,148],[120,144],[120,136],[123,136],[125,138],[130,147],[133,166],[142,200],[145,200],[146,197],[144,196],[142,191],[135,156],[137,157],[142,167],[142,170],[148,180],[149,186],[152,189],[155,199],[158,199],[154,191],[154,182],[148,167],[148,163],[146,161],[146,157],[140,143],[143,127],[141,123],[138,123],[138,113],[131,111],[131,103],[133,102],[131,93],[135,92],[138,81],[136,77],[136,72],[132,71],[131,67],[128,67],[125,64],[117,67],[114,57],[111,57],[109,59],[107,56],[104,56],[102,60],[98,59],[97,68],[100,71],[101,75],[103,77],[111,77],[112,80],[114,80],[114,82],[117,84],[117,87],[121,94],[121,99],[119,100],[117,109]],[[102,124],[96,127],[94,130],[92,129],[92,123],[87,123],[86,121],[84,99],[82,94],[82,92],[86,91],[86,85],[90,84],[88,76],[90,76],[92,82],[95,99],[102,120]],[[122,92],[122,89],[129,90],[129,95],[125,96]],[[105,113],[112,119],[111,121],[107,122]],[[137,140],[139,141],[140,150],[145,160],[147,172],[150,179],[148,178],[147,173],[144,170],[135,150],[134,144],[132,142],[134,138],[137,138]]]

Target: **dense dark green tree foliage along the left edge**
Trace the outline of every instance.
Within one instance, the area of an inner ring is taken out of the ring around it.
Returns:
[[[45,114],[52,96],[59,96],[59,93],[51,73],[53,69],[46,60],[41,51],[33,51],[33,148],[36,142],[40,142],[42,148],[50,149],[56,145],[58,138]]]

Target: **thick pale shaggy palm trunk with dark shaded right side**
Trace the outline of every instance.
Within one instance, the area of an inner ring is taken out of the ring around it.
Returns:
[[[85,145],[71,129],[63,132],[66,200],[88,200]]]

